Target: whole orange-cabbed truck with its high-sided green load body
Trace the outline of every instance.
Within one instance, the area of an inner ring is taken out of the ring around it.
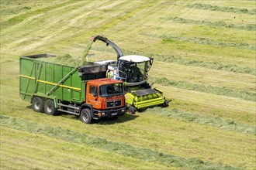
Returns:
[[[62,111],[80,116],[85,123],[125,113],[123,83],[105,78],[106,65],[73,67],[40,59],[47,57],[54,56],[20,57],[19,95],[31,102],[33,110],[46,114]],[[117,91],[102,96],[106,87],[116,87]]]

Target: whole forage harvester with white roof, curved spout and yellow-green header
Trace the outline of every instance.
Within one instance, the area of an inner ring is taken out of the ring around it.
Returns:
[[[114,42],[103,36],[95,36],[92,40],[94,42],[101,40],[106,42],[106,46],[110,45],[115,49],[117,62],[104,61],[104,64],[109,63],[106,76],[115,80],[123,80],[126,92],[126,107],[128,107],[131,114],[147,107],[159,105],[168,107],[168,101],[165,100],[163,92],[158,88],[152,89],[147,83],[148,72],[154,61],[153,58],[137,55],[123,56],[119,46],[116,46]]]

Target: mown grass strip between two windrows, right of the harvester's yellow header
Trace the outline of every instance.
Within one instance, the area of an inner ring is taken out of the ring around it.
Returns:
[[[171,99],[171,108],[184,112],[197,113],[209,117],[221,117],[236,121],[239,124],[255,126],[255,102],[241,100],[234,97],[225,97],[213,93],[203,93],[193,90],[185,90],[177,87],[166,87],[154,84],[153,87],[161,88],[164,96]],[[200,96],[196,98],[195,96]],[[206,107],[207,105],[207,107]],[[239,105],[239,107],[234,107]]]

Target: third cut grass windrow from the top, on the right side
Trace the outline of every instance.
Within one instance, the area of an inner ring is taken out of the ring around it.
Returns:
[[[175,40],[183,41],[183,42],[192,42],[197,44],[206,44],[210,46],[223,46],[223,47],[235,47],[239,49],[251,49],[255,50],[256,47],[254,45],[250,45],[247,43],[234,43],[234,42],[220,42],[213,39],[205,39],[205,38],[187,38],[181,36],[172,36],[172,35],[164,35],[161,36],[163,43],[173,42]]]

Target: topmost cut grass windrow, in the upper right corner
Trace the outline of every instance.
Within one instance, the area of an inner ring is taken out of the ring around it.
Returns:
[[[189,5],[186,5],[186,7],[198,8],[198,9],[209,10],[209,11],[233,12],[233,13],[250,14],[250,15],[256,14],[256,9],[248,10],[247,8],[234,8],[234,7],[201,4],[201,3],[189,4]]]

